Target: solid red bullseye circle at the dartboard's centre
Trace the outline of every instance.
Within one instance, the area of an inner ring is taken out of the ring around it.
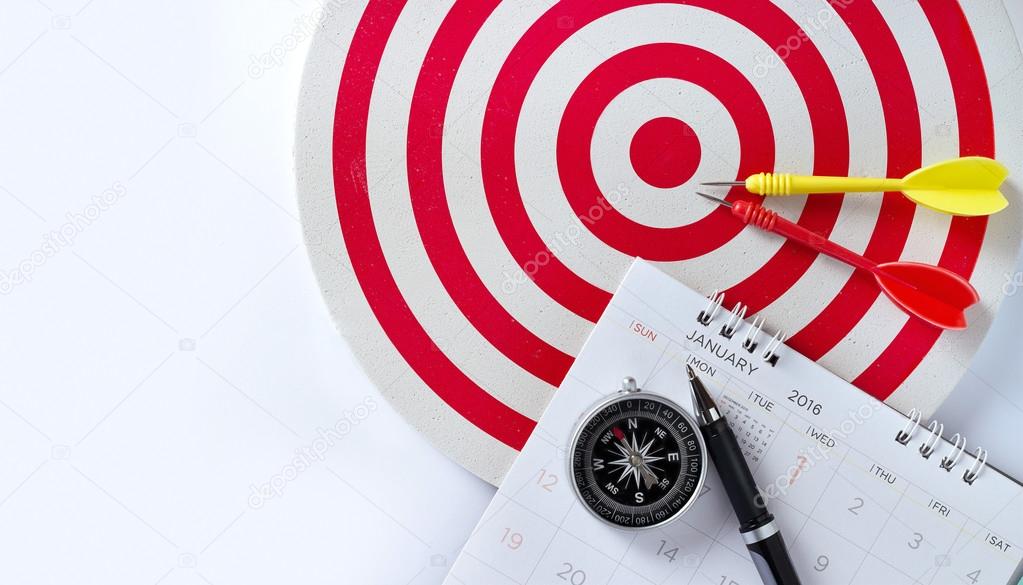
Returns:
[[[700,139],[677,118],[655,118],[632,137],[629,159],[648,185],[671,189],[688,181],[700,167]]]

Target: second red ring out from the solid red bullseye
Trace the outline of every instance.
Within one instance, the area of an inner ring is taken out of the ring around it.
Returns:
[[[508,54],[494,83],[484,118],[483,181],[498,232],[524,269],[537,256],[549,258],[541,270],[527,273],[550,298],[589,320],[599,316],[610,295],[565,266],[547,248],[530,221],[516,178],[515,141],[519,116],[532,81],[549,55],[573,33],[559,27],[560,21],[569,18],[576,28],[582,28],[612,12],[657,3],[660,2],[566,0],[554,5],[530,27]],[[678,0],[674,3],[703,8],[730,18],[772,47],[785,46],[789,38],[799,38],[801,33],[788,14],[766,1],[758,1],[752,6],[749,3],[707,0]],[[812,43],[805,42],[799,51],[792,52],[786,64],[796,79],[810,115],[816,152],[814,174],[845,174],[849,165],[845,109],[824,57]],[[588,158],[585,164],[589,164]],[[560,171],[564,176],[565,169]],[[827,235],[835,225],[841,205],[841,197],[836,195],[808,197],[798,221]],[[760,311],[788,290],[809,269],[814,258],[814,254],[801,246],[786,242],[759,270],[728,289],[728,299],[749,305],[752,312]]]

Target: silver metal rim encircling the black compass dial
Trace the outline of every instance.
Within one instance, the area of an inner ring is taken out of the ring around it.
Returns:
[[[625,402],[628,400],[653,400],[656,402],[661,402],[665,406],[674,409],[674,411],[677,412],[679,416],[684,418],[685,421],[693,428],[693,433],[696,438],[697,445],[700,447],[700,452],[699,452],[699,457],[701,461],[700,477],[697,480],[696,487],[693,489],[693,496],[688,499],[687,502],[685,502],[685,504],[683,504],[678,510],[676,510],[671,515],[666,516],[664,520],[652,522],[651,524],[644,526],[622,526],[597,513],[596,510],[594,510],[585,502],[582,492],[579,488],[579,484],[576,481],[575,466],[573,465],[576,446],[579,444],[579,437],[582,435],[582,432],[586,428],[586,424],[593,418],[593,416],[595,416],[598,412],[601,412],[605,408],[611,406],[616,402]],[[704,441],[703,433],[700,432],[700,425],[699,423],[697,423],[693,415],[690,414],[690,412],[683,409],[681,406],[679,406],[677,402],[671,400],[670,398],[667,398],[666,396],[661,394],[647,392],[642,389],[636,389],[635,391],[631,392],[625,390],[618,391],[614,395],[609,396],[608,398],[605,398],[598,401],[593,406],[591,406],[582,416],[580,416],[579,420],[576,422],[576,428],[575,431],[573,431],[572,433],[572,440],[569,443],[569,449],[566,457],[566,466],[568,467],[568,475],[569,478],[571,478],[572,480],[572,491],[575,492],[576,498],[578,498],[581,501],[582,507],[584,507],[586,511],[590,513],[590,515],[599,520],[602,523],[623,531],[649,530],[653,528],[663,527],[667,524],[674,522],[682,514],[684,514],[686,511],[688,511],[690,508],[692,508],[693,505],[696,503],[696,501],[700,499],[700,493],[703,491],[704,484],[707,481],[707,466],[709,462],[710,459],[708,458],[707,455],[707,444]]]

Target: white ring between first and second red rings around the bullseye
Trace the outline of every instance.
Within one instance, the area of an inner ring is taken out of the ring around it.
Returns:
[[[723,33],[717,36],[713,31]],[[722,43],[722,37],[731,39],[731,42]],[[717,54],[735,65],[763,97],[772,126],[775,127],[779,159],[798,160],[806,156],[805,149],[800,145],[811,141],[809,118],[795,82],[791,76],[784,81],[771,80],[771,83],[753,77],[756,62],[751,57],[751,48],[767,48],[758,37],[720,14],[693,6],[652,4],[628,8],[598,18],[576,31],[547,59],[526,96],[520,128],[529,128],[530,132],[520,131],[517,135],[516,164],[519,176],[531,179],[529,183],[520,181],[520,187],[534,225],[580,223],[565,197],[554,159],[558,130],[570,97],[583,79],[611,56],[653,43],[692,45]],[[640,87],[647,85],[640,84]],[[798,105],[793,107],[792,103]],[[688,111],[685,104],[677,98],[670,100],[668,105],[679,114]],[[733,124],[730,121],[728,123]],[[720,150],[713,142],[704,144],[702,146],[705,149],[711,148],[708,156],[713,153],[714,148]],[[726,154],[727,152],[720,152],[720,155]],[[725,177],[728,178],[731,177]],[[707,180],[712,179],[721,180],[720,177],[707,177]],[[616,185],[617,183],[614,182]],[[801,201],[792,202],[801,207]],[[697,216],[701,211],[707,210],[703,200],[691,199],[684,201],[684,205],[695,210],[683,212],[685,215]],[[799,207],[795,208],[797,212]],[[559,219],[549,222],[546,218]],[[540,235],[548,242],[553,239],[549,233],[541,231]],[[578,245],[559,258],[576,274],[607,290],[613,290],[628,268],[631,258],[607,245],[588,230],[584,230],[578,239]],[[766,248],[770,249],[771,245]],[[701,270],[700,265],[705,259],[706,257],[686,261],[687,275],[692,270],[692,274],[706,273],[711,278],[714,277],[712,274],[720,277],[721,265],[713,259],[706,260],[708,267],[716,264],[715,271]],[[756,266],[759,264],[752,260],[746,265],[744,259],[744,265],[735,267],[735,280],[742,280]],[[665,267],[672,269],[672,265]],[[748,268],[749,272],[743,273],[744,268]],[[686,282],[695,287],[711,284],[692,280],[688,276]]]

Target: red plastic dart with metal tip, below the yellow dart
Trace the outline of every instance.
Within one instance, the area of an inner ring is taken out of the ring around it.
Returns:
[[[704,193],[697,194],[730,208],[731,215],[747,225],[785,236],[810,250],[870,272],[895,305],[936,327],[965,329],[965,311],[980,300],[973,285],[950,270],[918,262],[878,264],[764,209],[760,204],[746,200],[732,204]]]

